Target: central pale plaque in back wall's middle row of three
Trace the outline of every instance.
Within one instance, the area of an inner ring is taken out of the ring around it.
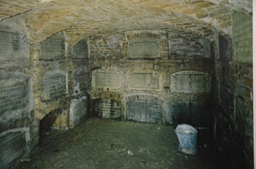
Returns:
[[[162,74],[152,70],[133,71],[127,82],[129,90],[162,90]]]

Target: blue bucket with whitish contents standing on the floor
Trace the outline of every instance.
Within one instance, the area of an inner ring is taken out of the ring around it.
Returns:
[[[178,125],[175,130],[178,136],[178,150],[185,154],[197,154],[197,130],[191,125]]]

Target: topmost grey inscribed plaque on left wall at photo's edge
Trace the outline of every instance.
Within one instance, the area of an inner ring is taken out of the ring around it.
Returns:
[[[20,56],[20,34],[0,31],[1,58]]]

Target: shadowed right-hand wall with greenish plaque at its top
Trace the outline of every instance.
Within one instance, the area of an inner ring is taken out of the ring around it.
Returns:
[[[241,24],[243,20],[243,24]],[[219,36],[214,137],[220,159],[253,168],[252,17],[233,13],[233,39]]]

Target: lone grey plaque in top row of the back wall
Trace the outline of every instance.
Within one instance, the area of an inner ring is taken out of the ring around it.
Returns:
[[[160,58],[161,42],[153,38],[137,38],[129,41],[129,58]]]

